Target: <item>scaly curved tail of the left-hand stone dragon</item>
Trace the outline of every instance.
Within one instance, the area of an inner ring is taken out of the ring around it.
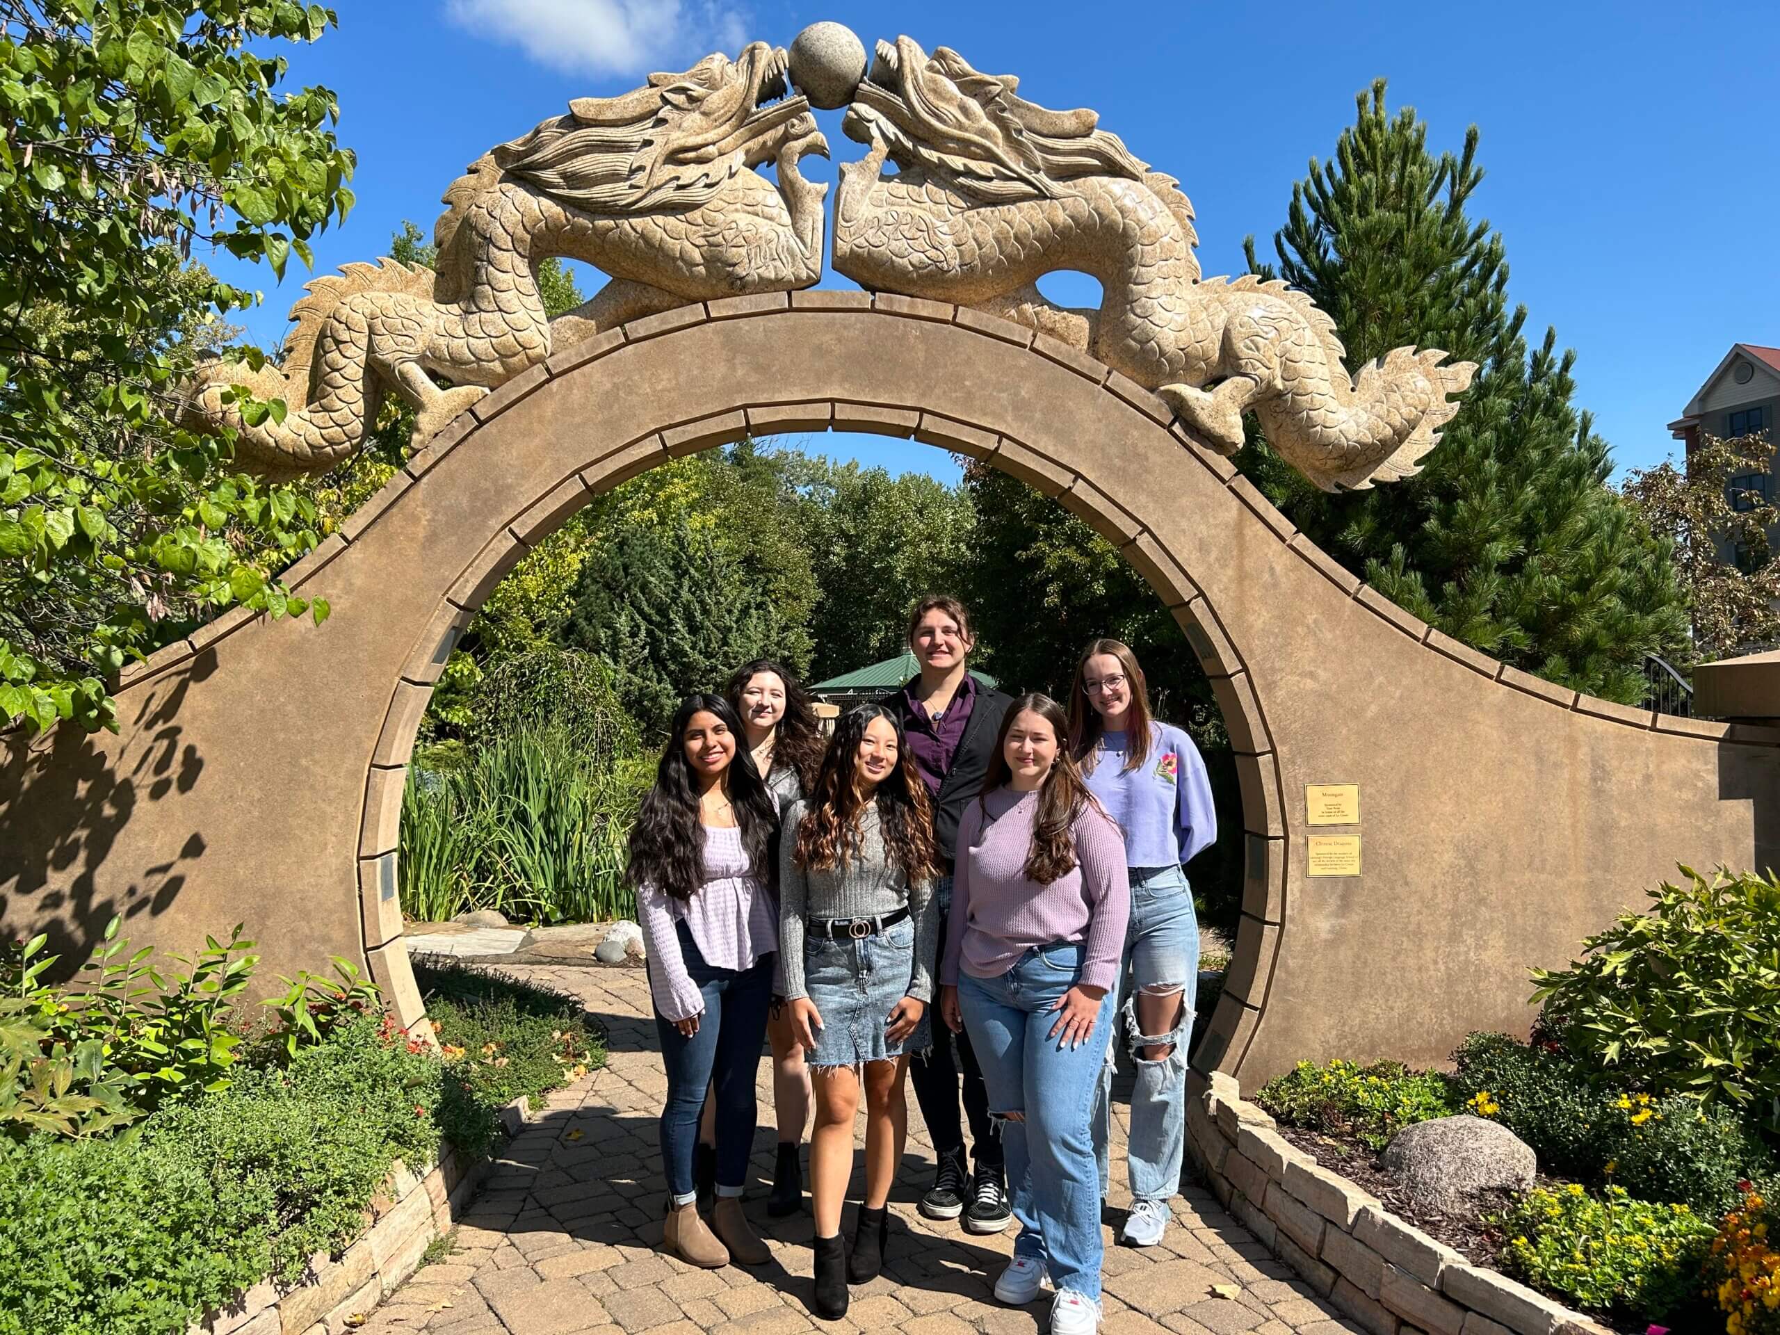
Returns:
[[[356,452],[381,404],[383,386],[370,370],[370,319],[354,297],[402,294],[433,299],[433,271],[397,260],[349,263],[338,274],[304,285],[290,310],[295,329],[285,338],[278,365],[253,370],[242,361],[198,368],[185,400],[194,431],[235,431],[235,463],[269,479],[328,472]],[[283,420],[249,425],[222,395],[235,384],[255,399],[281,399]]]

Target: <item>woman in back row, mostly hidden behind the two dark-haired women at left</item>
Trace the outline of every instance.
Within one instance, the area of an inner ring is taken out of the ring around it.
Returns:
[[[742,732],[755,769],[778,799],[780,812],[815,789],[822,767],[822,726],[797,675],[776,659],[742,664],[724,698],[742,719]],[[778,1121],[778,1162],[767,1214],[783,1218],[803,1205],[803,1164],[797,1146],[810,1120],[810,1068],[792,1031],[785,1006],[785,963],[773,975],[773,1006],[767,1011],[767,1045],[773,1048],[773,1114]],[[705,1100],[700,1123],[696,1182],[700,1194],[716,1185],[717,1102]]]

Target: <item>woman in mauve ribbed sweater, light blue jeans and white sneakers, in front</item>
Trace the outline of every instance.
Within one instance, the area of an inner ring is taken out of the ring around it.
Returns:
[[[1068,719],[1048,696],[1020,696],[1002,719],[983,796],[958,826],[940,1006],[952,1031],[968,1029],[1002,1120],[1020,1235],[995,1296],[1025,1305],[1048,1278],[1054,1335],[1093,1335],[1102,1262],[1093,1112],[1129,886],[1125,842],[1066,737]]]

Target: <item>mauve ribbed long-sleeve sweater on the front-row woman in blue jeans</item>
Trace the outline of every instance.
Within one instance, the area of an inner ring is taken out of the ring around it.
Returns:
[[[1072,829],[1075,869],[1050,885],[1025,879],[1032,849],[1036,792],[997,789],[972,801],[958,822],[952,917],[945,931],[940,981],[958,986],[958,970],[974,977],[1006,974],[1034,945],[1082,942],[1080,981],[1112,988],[1125,952],[1130,879],[1125,840],[1098,806],[1089,805]]]

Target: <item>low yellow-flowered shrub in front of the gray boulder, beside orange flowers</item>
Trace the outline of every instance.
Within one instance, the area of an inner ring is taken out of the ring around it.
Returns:
[[[1686,1205],[1652,1205],[1622,1187],[1534,1187],[1490,1219],[1508,1234],[1502,1267],[1597,1312],[1670,1317],[1691,1307],[1712,1225]]]

